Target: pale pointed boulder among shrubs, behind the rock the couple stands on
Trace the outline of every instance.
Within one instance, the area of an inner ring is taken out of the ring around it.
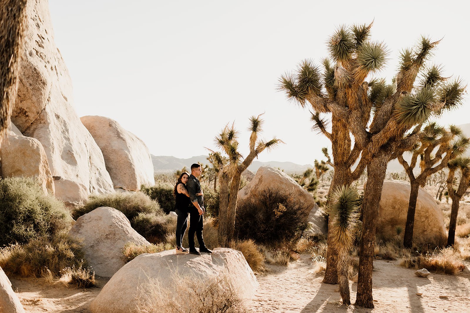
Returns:
[[[122,251],[127,242],[150,244],[122,212],[107,206],[80,216],[69,235],[83,240],[85,259],[102,277],[111,277],[125,264]]]

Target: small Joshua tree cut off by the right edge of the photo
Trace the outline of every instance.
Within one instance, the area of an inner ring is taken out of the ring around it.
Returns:
[[[452,209],[450,211],[449,235],[447,236],[447,246],[453,246],[455,240],[455,225],[457,224],[457,214],[459,213],[460,199],[469,188],[470,184],[470,158],[456,158],[448,163],[449,174],[447,176],[447,190],[452,199]],[[455,170],[460,169],[461,176],[457,190],[454,190]]]

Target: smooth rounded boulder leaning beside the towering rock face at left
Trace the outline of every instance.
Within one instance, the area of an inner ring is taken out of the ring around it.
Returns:
[[[141,139],[108,117],[80,120],[100,147],[115,189],[138,191],[141,184],[155,184],[149,148]]]

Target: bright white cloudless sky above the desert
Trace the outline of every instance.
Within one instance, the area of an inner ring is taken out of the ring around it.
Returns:
[[[70,71],[79,116],[118,121],[154,155],[207,154],[227,122],[241,130],[265,112],[261,137],[286,144],[261,161],[313,164],[328,140],[311,130],[310,113],[276,91],[278,78],[305,58],[327,56],[341,24],[370,23],[372,39],[399,51],[420,35],[444,37],[432,61],[447,76],[470,80],[466,1],[151,1],[49,0],[55,43]],[[441,118],[470,122],[470,103]]]

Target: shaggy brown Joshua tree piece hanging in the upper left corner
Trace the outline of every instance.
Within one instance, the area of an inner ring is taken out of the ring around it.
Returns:
[[[26,28],[26,0],[0,0],[0,146],[18,91]]]

